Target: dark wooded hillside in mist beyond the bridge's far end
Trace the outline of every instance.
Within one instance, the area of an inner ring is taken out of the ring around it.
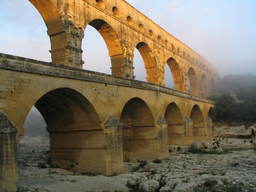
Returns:
[[[216,120],[256,122],[256,75],[229,75],[216,85]]]

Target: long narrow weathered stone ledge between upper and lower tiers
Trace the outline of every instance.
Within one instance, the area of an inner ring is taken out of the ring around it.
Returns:
[[[186,99],[191,99],[194,101],[214,104],[214,102],[211,100],[203,99],[203,98],[188,94],[186,92],[177,91],[177,90],[159,86],[153,83],[125,79],[125,78],[115,77],[115,76],[104,74],[104,73],[77,69],[77,68],[68,67],[68,66],[54,65],[50,62],[38,61],[34,59],[8,55],[4,53],[0,53],[0,69],[18,71],[23,73],[47,75],[47,76],[67,78],[67,79],[76,79],[76,80],[96,82],[101,84],[130,87],[135,89],[151,90],[151,91],[157,91],[160,93],[165,93],[165,94],[178,96]]]

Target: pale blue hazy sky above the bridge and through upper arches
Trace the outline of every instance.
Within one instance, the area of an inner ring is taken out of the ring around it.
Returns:
[[[256,74],[255,0],[128,0],[224,74]],[[0,52],[50,61],[47,29],[28,0],[1,0]],[[103,39],[88,28],[83,41],[86,69],[110,72]],[[95,55],[102,51],[101,57]],[[135,57],[136,76],[145,79]],[[167,76],[170,76],[167,74]],[[168,80],[170,81],[170,80]]]

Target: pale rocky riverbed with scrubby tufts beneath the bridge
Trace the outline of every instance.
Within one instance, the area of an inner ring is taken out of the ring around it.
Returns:
[[[244,139],[240,142],[244,143]],[[112,177],[74,175],[49,168],[45,144],[31,148],[23,143],[19,151],[19,192],[256,191],[256,152],[253,150],[223,152],[193,151],[192,148],[191,152],[182,152],[179,149],[162,161],[126,163],[127,172]]]

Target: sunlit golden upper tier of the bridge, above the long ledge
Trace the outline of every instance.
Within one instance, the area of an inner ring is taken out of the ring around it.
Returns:
[[[177,90],[189,92],[189,68],[193,68],[195,74],[205,74],[207,79],[216,82],[217,70],[207,60],[124,0],[30,2],[38,9],[48,26],[54,64],[82,68],[81,44],[84,29],[87,24],[91,24],[99,30],[108,45],[112,74],[115,76],[134,78],[134,47],[144,42],[151,48],[150,57],[154,58],[154,61],[150,62],[150,67],[146,64],[147,71],[150,71],[147,75],[149,82],[164,85],[164,65],[167,56],[179,63],[182,78],[176,78],[176,82],[183,82],[182,85],[176,86]],[[210,85],[209,93],[212,92],[211,86],[213,85]],[[193,94],[201,96],[199,89]]]

